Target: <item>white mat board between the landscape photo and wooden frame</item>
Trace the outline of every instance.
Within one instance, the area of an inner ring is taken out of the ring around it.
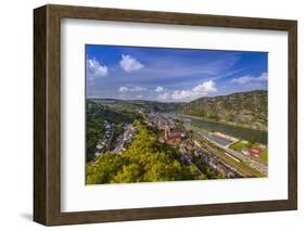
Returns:
[[[288,198],[287,33],[63,20],[61,35],[62,211]],[[86,187],[85,43],[268,52],[268,177]]]

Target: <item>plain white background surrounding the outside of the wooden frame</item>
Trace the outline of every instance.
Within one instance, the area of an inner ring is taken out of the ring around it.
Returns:
[[[240,16],[262,16],[298,20],[298,111],[304,118],[305,88],[304,33],[305,16],[303,1],[241,1],[241,0],[65,0],[53,3],[82,4],[96,7],[132,8],[142,10],[180,11],[190,13],[229,14]],[[22,228],[42,230],[30,221],[33,205],[33,8],[45,4],[42,0],[11,0],[1,5],[1,230]],[[226,229],[226,230],[266,230],[289,228],[301,230],[304,223],[305,202],[305,123],[298,120],[298,207],[297,211],[264,213],[251,215],[213,216],[170,220],[135,221],[73,227],[75,230],[143,230],[143,229]],[[54,229],[69,230],[72,227]]]

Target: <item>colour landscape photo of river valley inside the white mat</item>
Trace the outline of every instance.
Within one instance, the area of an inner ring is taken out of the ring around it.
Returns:
[[[268,177],[268,52],[85,52],[86,184]]]

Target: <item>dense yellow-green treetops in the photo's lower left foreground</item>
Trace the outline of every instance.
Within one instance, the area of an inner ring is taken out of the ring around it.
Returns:
[[[175,149],[158,142],[153,130],[139,121],[136,126],[138,134],[122,155],[105,153],[87,164],[88,184],[205,179],[180,164]]]

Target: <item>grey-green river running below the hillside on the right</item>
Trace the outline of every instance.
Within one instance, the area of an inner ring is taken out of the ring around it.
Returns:
[[[194,118],[187,118],[174,113],[166,113],[166,117],[173,117],[178,118],[185,123],[185,125],[189,126],[191,124],[196,125],[199,127],[202,127],[206,130],[212,131],[219,131],[225,134],[229,134],[231,137],[236,137],[239,139],[247,140],[247,141],[255,141],[262,144],[267,144],[267,132],[266,131],[259,131],[259,130],[253,130],[249,128],[242,128],[242,127],[236,127],[232,125],[226,125],[221,123],[215,123],[215,121],[205,121]]]

